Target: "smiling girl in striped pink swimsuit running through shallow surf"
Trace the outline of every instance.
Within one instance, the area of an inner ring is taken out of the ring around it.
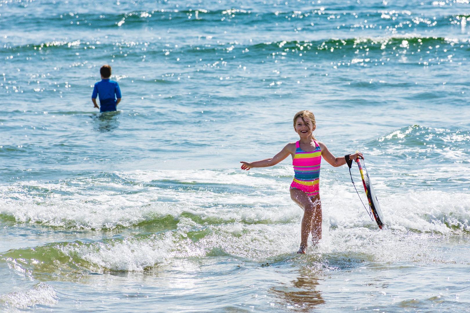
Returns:
[[[312,233],[312,242],[317,244],[321,239],[321,201],[319,194],[320,161],[321,157],[334,167],[351,163],[362,153],[347,154],[336,158],[325,144],[313,137],[315,116],[307,110],[300,111],[294,116],[294,130],[300,137],[298,142],[287,144],[274,157],[254,162],[241,161],[242,169],[266,168],[276,165],[289,155],[292,156],[294,180],[290,184],[290,198],[304,210],[300,230],[300,248],[297,253],[305,253],[308,236]],[[357,161],[356,161],[357,162]]]

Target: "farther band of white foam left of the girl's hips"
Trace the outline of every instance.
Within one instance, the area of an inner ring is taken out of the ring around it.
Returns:
[[[284,187],[276,180],[240,174],[227,176],[226,171],[189,171],[175,175],[174,171],[122,174],[111,180],[94,180],[94,190],[89,189],[90,179],[83,178],[9,186],[2,190],[5,198],[0,212],[20,222],[83,229],[137,225],[167,214],[179,216],[181,212],[222,220],[258,221],[270,219],[272,214],[249,212],[244,207],[270,206],[274,198],[271,188],[276,191]],[[125,178],[121,180],[120,176]],[[258,186],[267,189],[268,195],[245,198],[230,190],[232,184],[239,188]],[[108,190],[107,194],[103,190]],[[287,201],[282,202],[285,206]]]

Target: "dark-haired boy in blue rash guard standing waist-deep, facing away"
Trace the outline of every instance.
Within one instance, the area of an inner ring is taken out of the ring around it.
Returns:
[[[100,109],[100,112],[116,111],[118,103],[121,101],[121,90],[118,82],[110,80],[111,67],[106,64],[100,69],[101,82],[94,84],[91,100],[94,107]],[[100,96],[100,107],[96,104],[96,96]]]

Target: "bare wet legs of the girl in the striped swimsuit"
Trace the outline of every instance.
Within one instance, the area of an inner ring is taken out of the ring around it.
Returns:
[[[316,244],[321,238],[321,203],[320,195],[312,199],[300,189],[290,189],[290,198],[304,210],[304,217],[300,228],[300,249],[298,253],[305,253],[308,236],[312,233],[313,243]],[[312,201],[313,200],[313,201]],[[320,231],[320,235],[318,234]]]

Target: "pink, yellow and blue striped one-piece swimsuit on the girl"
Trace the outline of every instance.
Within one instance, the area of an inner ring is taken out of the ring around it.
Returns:
[[[296,151],[292,160],[295,175],[290,188],[300,189],[308,197],[314,197],[320,192],[321,148],[315,140],[313,141],[315,150],[312,152],[303,151],[299,142],[296,142]]]

